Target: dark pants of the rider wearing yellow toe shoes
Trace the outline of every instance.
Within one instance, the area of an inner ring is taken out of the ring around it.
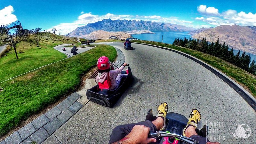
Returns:
[[[113,129],[108,143],[111,144],[118,140],[123,139],[132,131],[134,125],[145,125],[150,128],[150,132],[157,131],[156,126],[149,120],[139,123],[119,125]],[[206,141],[209,141],[207,138],[204,138],[200,135],[192,135],[189,138],[199,141],[199,144],[206,144]]]

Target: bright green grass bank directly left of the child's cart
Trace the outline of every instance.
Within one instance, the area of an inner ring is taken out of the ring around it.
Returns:
[[[115,60],[114,47],[97,47],[0,84],[0,135],[31,114],[75,90],[80,77],[96,66],[100,56]]]

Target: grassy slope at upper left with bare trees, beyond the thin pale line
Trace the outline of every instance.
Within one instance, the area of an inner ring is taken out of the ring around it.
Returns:
[[[76,43],[75,38],[44,32],[39,33],[40,40],[37,47],[33,36],[30,34],[17,44],[17,52],[24,52],[18,53],[19,59],[16,59],[13,48],[6,53],[7,56],[0,58],[0,82],[66,58],[65,54],[53,49],[53,46],[69,42]]]

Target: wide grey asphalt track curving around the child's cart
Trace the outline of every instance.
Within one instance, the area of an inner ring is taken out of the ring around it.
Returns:
[[[256,112],[235,90],[193,60],[147,45],[132,44],[134,50],[126,51],[122,43],[104,44],[124,53],[134,83],[114,108],[89,101],[54,132],[62,144],[107,143],[114,127],[145,120],[148,109],[156,114],[158,104],[164,101],[168,112],[186,117],[197,108],[202,114],[199,128],[206,120],[256,120]],[[219,135],[231,140],[233,136],[227,133],[224,129]]]

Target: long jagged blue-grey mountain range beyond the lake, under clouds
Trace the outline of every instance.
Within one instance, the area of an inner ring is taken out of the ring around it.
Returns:
[[[104,30],[108,32],[132,31],[132,30],[148,30],[148,31],[181,31],[190,32],[196,28],[188,28],[176,24],[159,23],[152,21],[136,21],[136,20],[102,20],[95,23],[88,23],[86,26],[78,27],[73,30],[70,36],[88,35],[96,30]]]

